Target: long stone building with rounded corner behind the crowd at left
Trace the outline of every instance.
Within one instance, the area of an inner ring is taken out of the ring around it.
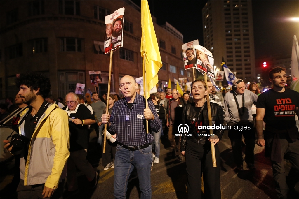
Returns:
[[[54,97],[90,83],[89,71],[101,71],[100,95],[107,92],[110,54],[103,55],[104,17],[125,7],[123,47],[113,53],[111,92],[120,94],[124,75],[141,77],[141,12],[132,1],[1,1],[1,98],[15,96],[16,74],[39,71],[50,78]],[[154,21],[163,67],[159,86],[169,78],[190,76],[181,58],[183,35]]]

